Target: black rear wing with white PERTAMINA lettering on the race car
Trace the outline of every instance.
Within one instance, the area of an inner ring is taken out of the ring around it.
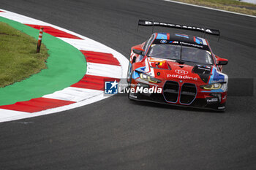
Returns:
[[[216,36],[220,35],[220,31],[217,29],[202,28],[198,26],[184,26],[176,23],[162,23],[162,22],[157,22],[152,20],[138,20],[138,26],[153,26],[152,31],[154,30],[154,26],[163,26],[163,27],[170,27],[170,28],[180,28],[180,29],[189,29],[193,31],[201,31],[201,32],[204,32],[205,34],[212,34]]]

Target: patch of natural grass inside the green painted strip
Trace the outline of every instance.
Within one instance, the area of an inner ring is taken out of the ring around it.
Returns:
[[[0,88],[46,69],[48,50],[42,44],[40,53],[36,53],[35,45],[34,37],[0,22]]]

